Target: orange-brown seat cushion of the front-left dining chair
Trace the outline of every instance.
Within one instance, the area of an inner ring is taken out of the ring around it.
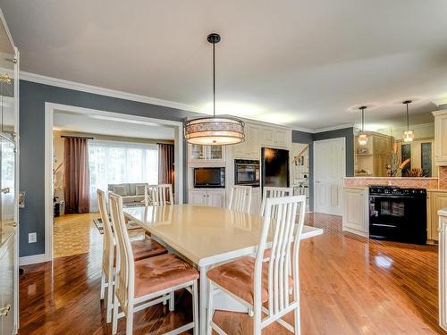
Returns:
[[[198,279],[198,271],[173,254],[135,262],[135,297],[169,289]]]

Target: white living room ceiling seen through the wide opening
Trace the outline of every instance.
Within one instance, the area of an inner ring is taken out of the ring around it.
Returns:
[[[95,115],[55,111],[55,130],[118,136],[125,138],[174,139],[174,130],[163,125],[136,121],[114,121]]]

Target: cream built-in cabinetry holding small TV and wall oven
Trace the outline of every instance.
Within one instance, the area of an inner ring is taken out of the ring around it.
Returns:
[[[250,213],[259,214],[262,197],[262,147],[291,150],[291,130],[245,121],[245,140],[240,144],[188,144],[188,202],[225,207],[229,204],[233,185],[250,185],[253,187]],[[238,172],[239,180],[236,177]]]

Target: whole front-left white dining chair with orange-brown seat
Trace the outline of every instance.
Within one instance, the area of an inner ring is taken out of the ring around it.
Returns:
[[[122,197],[109,194],[112,226],[116,239],[117,256],[114,284],[114,320],[112,333],[116,334],[118,319],[126,318],[126,333],[133,329],[133,314],[169,300],[173,311],[173,293],[186,289],[192,294],[192,322],[170,331],[179,334],[193,329],[198,334],[198,271],[173,254],[133,261],[133,252],[122,212]],[[119,308],[121,307],[121,312]]]

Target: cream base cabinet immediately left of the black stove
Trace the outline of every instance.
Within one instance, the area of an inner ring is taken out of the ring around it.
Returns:
[[[342,230],[369,236],[367,188],[343,188]]]

